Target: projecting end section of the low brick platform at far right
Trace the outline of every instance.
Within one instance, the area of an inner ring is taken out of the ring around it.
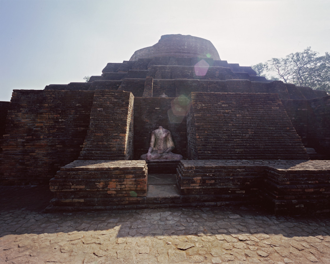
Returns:
[[[267,167],[262,195],[276,214],[329,213],[329,179],[327,160],[274,163]]]

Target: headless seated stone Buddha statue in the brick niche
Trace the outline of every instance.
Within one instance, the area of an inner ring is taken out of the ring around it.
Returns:
[[[174,143],[171,132],[160,126],[158,129],[151,132],[148,153],[141,155],[141,160],[182,160],[182,155],[171,152],[173,149]]]

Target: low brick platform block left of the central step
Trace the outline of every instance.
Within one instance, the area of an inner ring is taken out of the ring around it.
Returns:
[[[62,209],[125,208],[146,200],[147,180],[145,161],[77,160],[49,181],[50,203]]]

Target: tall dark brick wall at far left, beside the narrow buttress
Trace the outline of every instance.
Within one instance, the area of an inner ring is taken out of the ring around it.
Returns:
[[[78,158],[92,91],[14,90],[2,142],[1,184],[48,183]]]

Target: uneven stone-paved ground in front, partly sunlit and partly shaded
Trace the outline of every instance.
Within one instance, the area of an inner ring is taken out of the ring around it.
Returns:
[[[330,263],[328,215],[259,207],[44,213],[47,186],[0,187],[0,263]]]

